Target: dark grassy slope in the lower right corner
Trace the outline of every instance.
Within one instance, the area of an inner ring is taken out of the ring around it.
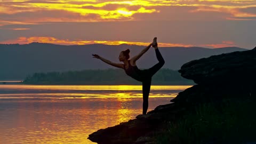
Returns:
[[[204,103],[168,123],[157,143],[246,143],[256,141],[256,102],[223,100]]]

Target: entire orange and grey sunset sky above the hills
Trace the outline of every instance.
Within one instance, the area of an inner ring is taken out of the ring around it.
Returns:
[[[256,46],[255,0],[0,0],[0,43]]]

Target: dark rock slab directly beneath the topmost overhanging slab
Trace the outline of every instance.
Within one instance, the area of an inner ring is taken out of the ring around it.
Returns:
[[[198,84],[180,92],[171,102],[183,105],[218,102],[222,99],[256,99],[256,84]]]

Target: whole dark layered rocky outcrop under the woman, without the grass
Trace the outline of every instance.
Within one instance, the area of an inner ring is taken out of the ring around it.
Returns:
[[[147,115],[89,135],[97,143],[155,143],[154,135],[166,124],[177,122],[198,103],[225,98],[256,99],[256,47],[253,50],[214,55],[185,63],[181,76],[197,84],[180,92],[169,105],[158,106]]]

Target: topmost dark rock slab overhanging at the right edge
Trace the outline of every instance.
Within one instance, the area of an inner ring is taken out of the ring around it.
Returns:
[[[197,84],[253,83],[256,77],[256,47],[193,60],[185,63],[179,72],[182,77],[193,79]]]

